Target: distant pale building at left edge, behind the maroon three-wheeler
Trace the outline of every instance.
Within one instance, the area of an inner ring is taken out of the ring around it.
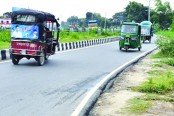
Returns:
[[[10,28],[11,18],[0,18],[0,28]]]

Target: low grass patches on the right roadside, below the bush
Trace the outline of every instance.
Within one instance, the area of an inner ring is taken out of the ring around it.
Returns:
[[[141,115],[148,112],[156,101],[174,103],[173,59],[163,56],[160,52],[151,58],[158,58],[158,61],[154,62],[155,67],[151,64],[153,70],[147,72],[149,78],[140,86],[132,88],[133,91],[144,93],[144,95],[128,100],[123,112]]]

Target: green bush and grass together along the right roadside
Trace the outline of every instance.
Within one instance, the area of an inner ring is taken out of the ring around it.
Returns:
[[[157,45],[159,52],[153,55],[158,61],[152,64],[153,70],[147,72],[149,78],[140,86],[132,88],[133,91],[145,93],[143,96],[132,98],[123,112],[130,114],[143,114],[155,105],[155,101],[174,103],[174,34],[170,31],[159,32]]]

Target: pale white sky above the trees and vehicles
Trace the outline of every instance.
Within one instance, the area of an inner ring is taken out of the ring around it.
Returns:
[[[129,1],[148,6],[149,0],[0,0],[0,15],[11,12],[12,7],[30,8],[52,13],[59,17],[60,21],[66,21],[70,16],[85,18],[86,12],[100,13],[102,17],[112,16],[129,4]],[[150,0],[151,8],[154,8],[154,1]],[[169,1],[174,10],[174,0]]]

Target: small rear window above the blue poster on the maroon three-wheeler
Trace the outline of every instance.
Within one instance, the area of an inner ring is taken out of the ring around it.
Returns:
[[[36,17],[33,15],[16,15],[14,22],[35,23]]]

